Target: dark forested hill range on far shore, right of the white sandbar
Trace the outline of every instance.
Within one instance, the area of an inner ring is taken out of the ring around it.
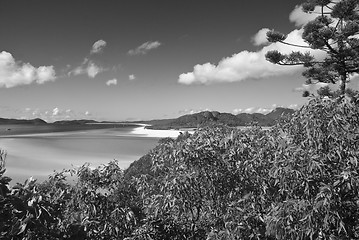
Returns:
[[[293,112],[293,109],[281,107],[274,109],[268,114],[240,113],[234,115],[217,111],[204,111],[184,115],[176,119],[151,120],[145,123],[151,124],[148,128],[152,129],[196,128],[211,123],[222,123],[228,126],[247,126],[252,122],[257,122],[260,126],[272,126],[280,116],[292,114]]]

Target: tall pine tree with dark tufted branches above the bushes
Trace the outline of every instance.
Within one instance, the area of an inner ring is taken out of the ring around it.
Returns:
[[[315,58],[309,51],[293,51],[282,54],[273,50],[266,59],[279,65],[303,65],[307,84],[340,83],[341,94],[345,93],[350,76],[359,73],[359,1],[357,0],[307,0],[302,4],[306,13],[318,16],[303,27],[303,48],[321,50],[324,56]],[[286,42],[287,36],[269,31],[269,42]],[[295,45],[297,46],[297,45]]]

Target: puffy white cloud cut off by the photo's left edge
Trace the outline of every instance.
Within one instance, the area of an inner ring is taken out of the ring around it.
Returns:
[[[0,87],[10,88],[34,82],[43,84],[55,79],[54,66],[36,68],[30,63],[16,62],[11,53],[0,53]]]

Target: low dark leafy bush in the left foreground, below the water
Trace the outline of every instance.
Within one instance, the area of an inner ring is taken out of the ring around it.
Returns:
[[[1,239],[123,239],[143,218],[136,190],[124,183],[116,161],[54,173],[40,184],[30,178],[11,189],[10,179],[0,177]]]

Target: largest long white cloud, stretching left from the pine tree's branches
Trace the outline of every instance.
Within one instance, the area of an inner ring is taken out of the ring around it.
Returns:
[[[297,45],[306,45],[301,38],[302,31],[293,30],[288,34],[287,41]],[[223,58],[217,65],[212,63],[197,64],[192,72],[181,74],[178,82],[186,85],[239,82],[250,78],[260,79],[293,74],[302,69],[301,66],[279,66],[268,62],[265,59],[265,54],[270,50],[278,50],[281,53],[288,54],[303,49],[281,43],[272,43],[257,52],[242,51],[231,57]]]

